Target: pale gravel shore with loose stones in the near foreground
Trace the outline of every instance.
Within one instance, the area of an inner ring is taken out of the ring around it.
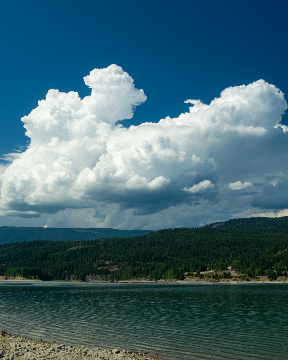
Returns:
[[[86,348],[55,344],[41,339],[28,339],[0,333],[1,360],[161,360],[158,356],[118,349]]]

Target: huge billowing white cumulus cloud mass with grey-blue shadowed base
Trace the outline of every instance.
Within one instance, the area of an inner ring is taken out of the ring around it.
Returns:
[[[0,216],[158,229],[284,210],[287,103],[274,85],[228,87],[209,105],[188,99],[176,118],[125,128],[144,91],[117,65],[84,81],[91,95],[51,89],[21,119],[31,141],[0,167]]]

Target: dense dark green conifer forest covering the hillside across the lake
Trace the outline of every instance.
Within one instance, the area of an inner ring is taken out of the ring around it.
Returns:
[[[288,216],[233,219],[135,237],[0,245],[0,275],[42,280],[184,279],[206,270],[287,276]],[[184,275],[185,274],[185,275]],[[225,273],[226,274],[226,273]]]

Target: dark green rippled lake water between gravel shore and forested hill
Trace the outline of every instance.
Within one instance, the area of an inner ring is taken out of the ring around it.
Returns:
[[[0,328],[173,360],[288,359],[288,285],[0,283]]]

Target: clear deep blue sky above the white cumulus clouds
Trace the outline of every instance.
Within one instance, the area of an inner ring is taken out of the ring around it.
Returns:
[[[132,120],[157,122],[264,78],[284,93],[287,1],[9,1],[1,4],[2,153],[49,89],[89,94],[82,78],[112,63],[144,89]]]

